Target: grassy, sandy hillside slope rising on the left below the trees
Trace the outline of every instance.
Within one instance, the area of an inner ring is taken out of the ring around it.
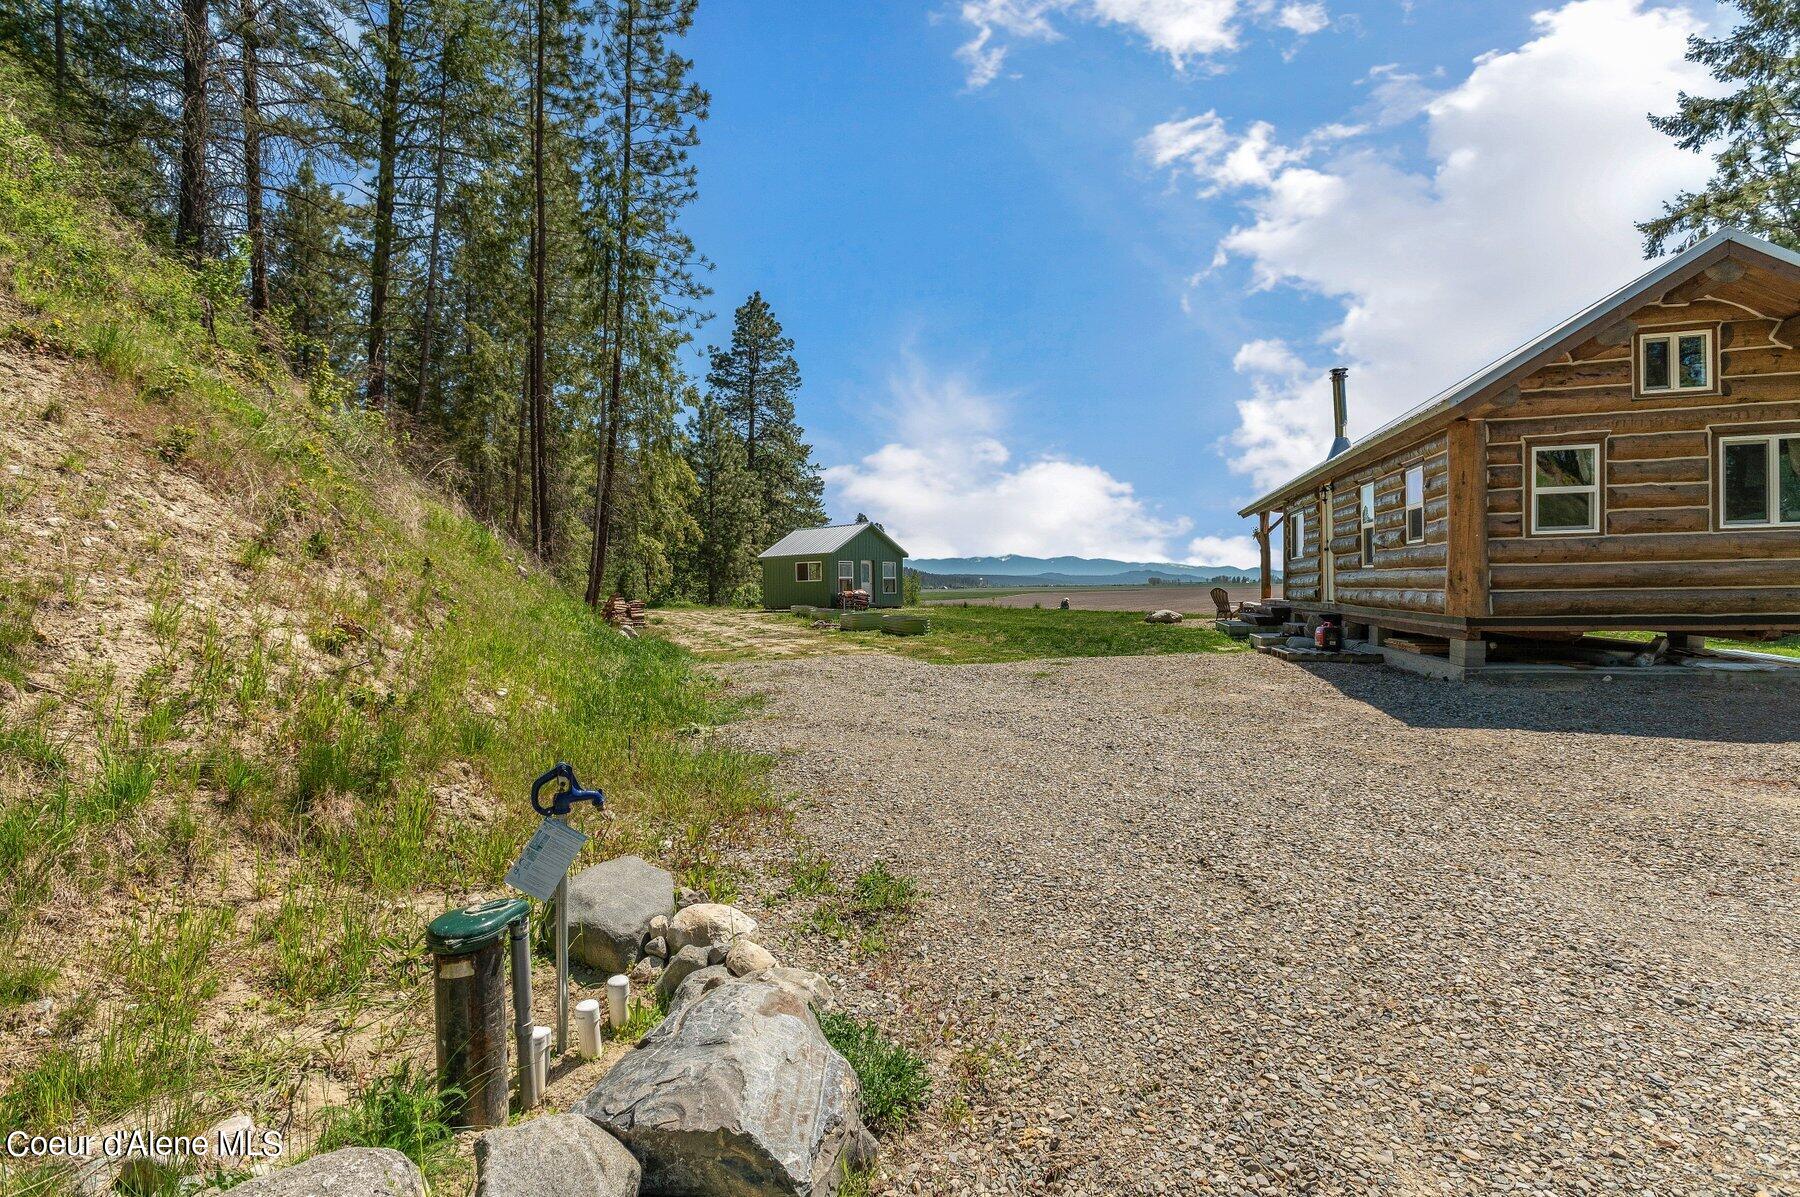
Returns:
[[[763,761],[693,738],[729,713],[688,657],[414,482],[342,383],[229,302],[209,329],[214,283],[36,95],[0,59],[0,1134],[245,1109],[304,1139],[428,1055],[421,922],[499,889],[531,776],[605,785],[592,857],[724,884]]]

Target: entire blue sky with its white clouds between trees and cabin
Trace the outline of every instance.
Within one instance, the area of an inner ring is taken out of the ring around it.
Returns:
[[[1715,7],[702,4],[689,229],[794,337],[833,515],[1244,563],[1235,509],[1642,270]],[[1552,185],[1562,180],[1562,185]]]

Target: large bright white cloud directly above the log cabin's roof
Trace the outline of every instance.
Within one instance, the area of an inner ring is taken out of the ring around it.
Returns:
[[[1292,146],[1215,113],[1139,144],[1202,194],[1244,196],[1222,248],[1256,286],[1336,299],[1318,351],[1251,342],[1233,466],[1273,486],[1330,443],[1325,367],[1352,365],[1352,434],[1370,432],[1643,270],[1633,221],[1699,184],[1708,164],[1643,119],[1708,92],[1685,61],[1703,22],[1643,0],[1575,0],[1534,16],[1525,45],[1485,54],[1442,90],[1393,67],[1370,74],[1379,126],[1424,122],[1427,166],[1402,166],[1359,126]]]

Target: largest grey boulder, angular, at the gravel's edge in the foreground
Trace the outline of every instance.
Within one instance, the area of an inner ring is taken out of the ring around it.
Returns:
[[[857,1100],[855,1071],[796,988],[727,974],[677,1006],[576,1112],[632,1148],[652,1197],[832,1197],[846,1168],[875,1159]]]

